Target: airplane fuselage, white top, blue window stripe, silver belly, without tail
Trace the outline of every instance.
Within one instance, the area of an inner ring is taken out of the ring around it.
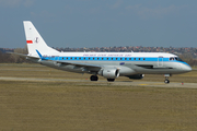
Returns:
[[[72,64],[57,64],[56,61],[100,66],[102,69],[119,69],[119,75],[139,73],[174,74],[185,73],[192,68],[177,56],[164,52],[59,52],[43,55],[47,61],[43,64],[73,72],[99,72],[99,70],[83,70],[83,67]],[[51,62],[53,61],[53,62]]]

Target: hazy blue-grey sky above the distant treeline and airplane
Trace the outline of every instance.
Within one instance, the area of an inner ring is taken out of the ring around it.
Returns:
[[[197,0],[0,0],[0,48],[24,48],[23,21],[50,47],[197,47]]]

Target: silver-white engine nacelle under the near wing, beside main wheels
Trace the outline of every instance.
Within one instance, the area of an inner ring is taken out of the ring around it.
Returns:
[[[100,75],[106,79],[116,79],[119,76],[119,69],[104,69]]]

